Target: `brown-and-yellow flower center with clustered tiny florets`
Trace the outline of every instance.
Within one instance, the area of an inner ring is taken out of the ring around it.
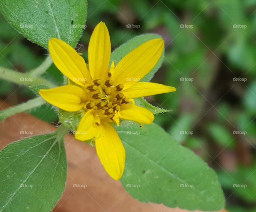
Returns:
[[[122,93],[124,86],[122,84],[114,86],[110,77],[109,72],[107,80],[96,79],[84,87],[87,94],[84,109],[92,110],[94,116],[107,122],[119,122],[118,112],[121,106],[128,104],[130,100]]]

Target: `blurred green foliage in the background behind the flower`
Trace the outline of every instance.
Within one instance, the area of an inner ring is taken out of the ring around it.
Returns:
[[[146,98],[172,110],[156,115],[155,122],[218,172],[232,212],[256,211],[255,10],[255,0],[89,1],[87,26],[77,46],[87,61],[91,32],[101,20],[113,50],[136,35],[153,32],[163,37],[165,59],[152,81],[177,91]],[[19,35],[2,16],[0,28],[2,66],[26,72],[42,63],[46,50]],[[57,85],[63,82],[54,65],[44,77]],[[0,96],[17,104],[34,94],[0,81]],[[51,106],[30,112],[58,121]]]

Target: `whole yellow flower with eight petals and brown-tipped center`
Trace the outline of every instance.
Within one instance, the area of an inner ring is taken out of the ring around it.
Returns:
[[[162,39],[141,44],[110,68],[111,44],[105,23],[100,22],[90,38],[89,66],[64,41],[49,40],[49,53],[57,68],[72,83],[39,94],[50,104],[66,111],[80,111],[82,118],[75,133],[81,141],[95,138],[95,148],[106,172],[119,180],[125,167],[125,149],[112,126],[119,119],[151,124],[154,115],[134,105],[133,98],[175,91],[174,87],[138,82],[157,63],[164,47]]]

